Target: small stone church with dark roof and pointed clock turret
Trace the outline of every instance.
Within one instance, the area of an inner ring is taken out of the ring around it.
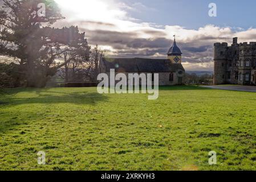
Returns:
[[[173,46],[167,53],[167,59],[145,58],[108,58],[101,57],[99,72],[110,75],[110,69],[115,69],[115,74],[124,73],[159,73],[159,85],[184,84],[185,69],[182,66],[182,52],[174,39]],[[128,80],[129,82],[129,80]]]

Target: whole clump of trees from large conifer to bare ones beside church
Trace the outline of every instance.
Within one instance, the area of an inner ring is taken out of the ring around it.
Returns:
[[[75,26],[54,28],[63,19],[54,0],[2,0],[0,7],[0,86],[41,88],[60,68],[65,81],[95,80],[99,57]],[[43,3],[46,14],[39,15]]]

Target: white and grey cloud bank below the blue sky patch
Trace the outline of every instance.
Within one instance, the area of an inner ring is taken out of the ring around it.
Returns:
[[[66,19],[56,27],[77,25],[86,32],[88,42],[107,47],[112,57],[166,58],[176,35],[183,53],[186,69],[212,70],[213,44],[231,43],[234,36],[239,42],[256,41],[256,29],[218,27],[207,24],[198,29],[143,22],[133,18],[129,11],[150,10],[141,3],[127,4],[121,0],[56,0]]]

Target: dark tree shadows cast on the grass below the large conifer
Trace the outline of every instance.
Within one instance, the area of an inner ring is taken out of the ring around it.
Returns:
[[[63,92],[62,92],[63,91]],[[20,94],[19,94],[20,93]],[[27,105],[25,108],[34,107],[30,104],[75,104],[75,105],[96,105],[100,102],[107,102],[108,97],[104,94],[99,94],[97,92],[70,92],[67,93],[66,90],[51,90],[51,89],[6,89],[6,92],[0,95],[0,116],[4,113],[9,113],[5,118],[5,121],[0,121],[0,133],[5,131],[10,131],[18,128],[21,125],[29,125],[30,122],[34,121],[36,112],[24,110],[25,114],[29,115],[26,119],[18,118],[14,114],[15,110],[12,110],[12,106],[17,105]],[[36,106],[35,106],[36,107]],[[41,107],[38,107],[41,108]],[[3,111],[1,109],[6,109]]]

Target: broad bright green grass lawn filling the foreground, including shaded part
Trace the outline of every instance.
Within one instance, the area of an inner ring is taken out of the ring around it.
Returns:
[[[2,170],[256,169],[256,93],[174,86],[149,101],[96,88],[5,92]]]

